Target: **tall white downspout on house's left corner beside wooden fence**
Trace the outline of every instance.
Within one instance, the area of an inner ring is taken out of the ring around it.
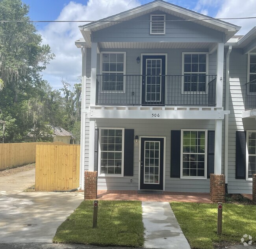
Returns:
[[[82,99],[81,99],[81,136],[80,136],[80,182],[84,189],[84,158],[85,158],[85,98],[86,98],[86,48],[81,48],[82,52]]]

